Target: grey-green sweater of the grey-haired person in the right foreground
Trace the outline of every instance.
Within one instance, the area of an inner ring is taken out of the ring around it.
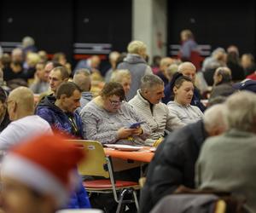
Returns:
[[[249,212],[256,212],[255,152],[256,135],[253,133],[230,130],[210,137],[197,159],[197,186],[245,197]]]

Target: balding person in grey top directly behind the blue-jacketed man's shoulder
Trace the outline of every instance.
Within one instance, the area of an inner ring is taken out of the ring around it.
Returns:
[[[85,107],[92,100],[92,94],[90,92],[91,79],[90,71],[87,69],[79,69],[73,76],[73,83],[79,86],[82,91],[82,96],[80,99],[80,107],[78,107],[78,112]]]

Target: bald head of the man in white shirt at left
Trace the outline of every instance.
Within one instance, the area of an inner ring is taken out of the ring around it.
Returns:
[[[17,103],[18,110],[28,113],[34,111],[34,95],[31,89],[18,87],[9,94],[9,100]]]

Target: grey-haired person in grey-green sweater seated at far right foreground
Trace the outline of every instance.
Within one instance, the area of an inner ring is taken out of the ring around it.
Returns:
[[[225,112],[229,129],[204,143],[196,166],[197,185],[244,197],[248,212],[256,212],[256,95],[230,95]]]

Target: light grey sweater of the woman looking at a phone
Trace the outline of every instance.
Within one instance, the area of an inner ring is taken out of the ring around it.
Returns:
[[[90,101],[80,112],[84,124],[84,138],[102,143],[119,143],[128,145],[143,145],[151,131],[147,124],[142,124],[143,135],[132,136],[130,141],[118,140],[117,131],[133,123],[143,122],[137,112],[127,103],[121,104],[118,112],[108,112]]]

